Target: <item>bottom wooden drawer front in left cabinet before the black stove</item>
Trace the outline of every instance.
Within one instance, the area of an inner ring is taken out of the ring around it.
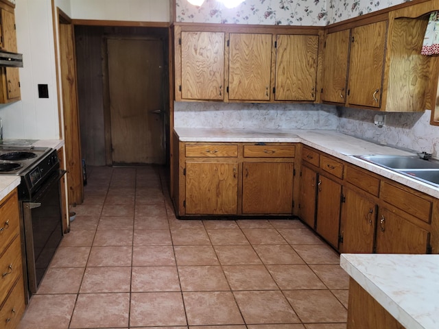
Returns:
[[[21,315],[25,311],[25,289],[21,276],[14,285],[11,294],[0,309],[0,328],[13,329],[19,326]]]

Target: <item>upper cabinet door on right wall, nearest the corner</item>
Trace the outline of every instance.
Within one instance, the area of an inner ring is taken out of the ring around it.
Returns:
[[[350,35],[351,31],[345,29],[327,34],[324,41],[322,101],[346,101]]]

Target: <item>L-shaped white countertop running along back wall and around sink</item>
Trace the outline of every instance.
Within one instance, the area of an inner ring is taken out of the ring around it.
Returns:
[[[226,130],[175,127],[174,131],[180,138],[180,141],[183,142],[302,143],[340,158],[340,160],[382,175],[390,180],[410,186],[432,197],[439,198],[439,188],[436,186],[420,182],[401,173],[396,173],[395,171],[353,157],[374,154],[401,156],[416,156],[416,154],[387,145],[364,141],[360,138],[336,132],[335,130]]]

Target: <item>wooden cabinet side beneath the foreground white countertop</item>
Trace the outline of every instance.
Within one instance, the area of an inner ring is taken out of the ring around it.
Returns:
[[[353,278],[349,281],[347,329],[405,329]]]

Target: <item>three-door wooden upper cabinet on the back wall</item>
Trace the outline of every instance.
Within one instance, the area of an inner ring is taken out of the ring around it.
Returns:
[[[320,99],[322,29],[174,25],[176,101]]]

